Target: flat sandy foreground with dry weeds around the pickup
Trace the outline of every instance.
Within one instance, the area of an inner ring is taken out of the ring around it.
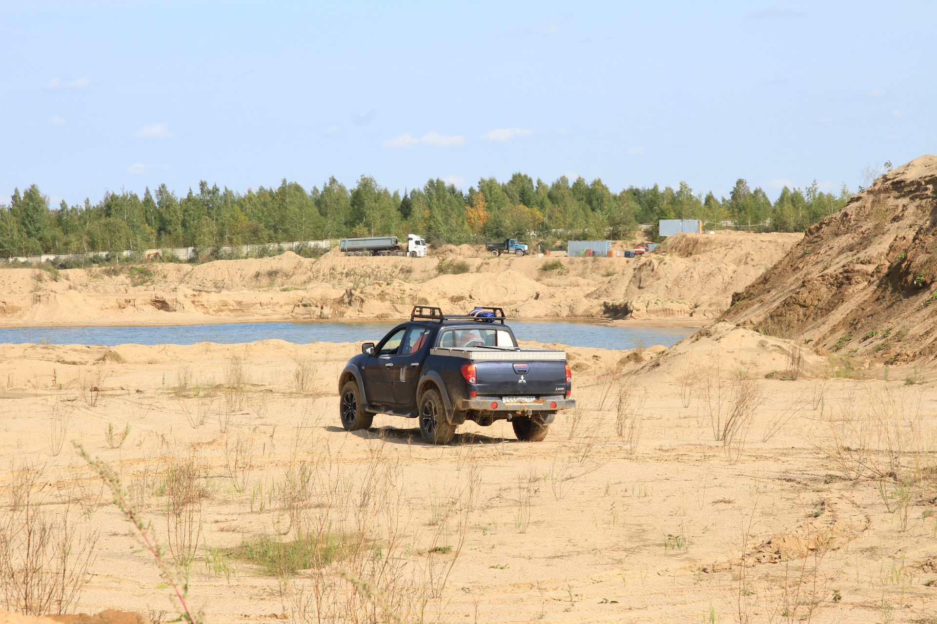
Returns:
[[[63,421],[66,439],[120,472],[164,539],[171,530],[161,479],[174,462],[197,463],[203,498],[189,591],[209,621],[315,619],[298,606],[305,573],[284,588],[234,554],[258,536],[290,539],[281,493],[303,462],[349,492],[366,475],[383,475],[375,552],[400,572],[394,588],[409,598],[397,608],[408,621],[937,617],[937,587],[926,585],[937,579],[937,492],[926,452],[937,387],[914,371],[892,370],[889,381],[882,370],[877,380],[759,378],[765,400],[727,447],[714,440],[706,370],[688,379],[665,367],[638,370],[642,358],[629,361],[627,352],[569,348],[580,407],[560,414],[543,443],[517,442],[504,422],[468,423],[454,443],[435,447],[403,418],[378,416],[354,433],[339,427],[335,380],[357,349],[283,341],[0,346],[0,458],[9,468],[40,466],[50,501],[77,501],[79,526],[99,533],[80,610],[158,618],[171,605],[100,481],[67,443],[53,455]],[[691,356],[705,365],[702,354]],[[241,362],[236,391],[232,361]],[[300,391],[302,363],[312,381]],[[99,376],[89,382],[89,374]],[[101,389],[94,407],[82,398],[90,384]],[[883,410],[907,416],[916,442],[888,454],[897,457],[894,476],[847,478],[855,464],[828,452],[830,423],[861,424]],[[118,438],[129,426],[118,448],[106,442],[109,423]],[[314,498],[309,513],[322,505]],[[339,515],[364,506],[336,507],[330,521],[341,525]],[[385,543],[392,525],[397,541]],[[441,595],[413,598],[427,587]]]

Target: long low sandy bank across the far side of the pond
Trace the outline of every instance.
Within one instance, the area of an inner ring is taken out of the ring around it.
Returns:
[[[793,247],[799,234],[677,235],[639,258],[319,259],[291,252],[201,265],[46,271],[0,269],[0,324],[171,324],[218,320],[400,318],[414,304],[463,312],[496,305],[515,318],[695,319]]]

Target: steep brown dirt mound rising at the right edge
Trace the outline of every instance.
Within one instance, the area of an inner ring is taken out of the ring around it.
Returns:
[[[722,320],[872,364],[937,356],[937,156],[812,225]]]

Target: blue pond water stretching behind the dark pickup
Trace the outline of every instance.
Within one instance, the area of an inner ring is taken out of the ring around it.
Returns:
[[[164,327],[23,327],[0,328],[0,343],[47,342],[49,344],[194,344],[196,342],[282,341],[361,342],[379,341],[399,321],[373,323],[227,323]],[[560,342],[577,347],[633,349],[638,344],[669,347],[692,334],[690,327],[609,327],[570,321],[511,321],[508,325],[520,341]]]

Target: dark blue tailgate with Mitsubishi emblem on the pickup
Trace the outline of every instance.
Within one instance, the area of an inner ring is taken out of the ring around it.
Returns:
[[[476,361],[480,397],[543,397],[563,394],[566,390],[564,360],[525,359],[513,361]]]

